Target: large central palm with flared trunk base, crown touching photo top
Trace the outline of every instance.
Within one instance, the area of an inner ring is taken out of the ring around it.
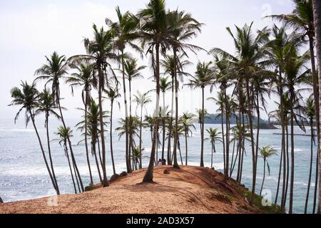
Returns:
[[[165,0],[151,0],[146,6],[138,12],[141,28],[142,46],[147,46],[147,52],[151,53],[152,68],[154,77],[156,78],[156,117],[159,112],[160,90],[160,51],[164,51],[168,47],[167,38],[167,23]],[[158,137],[158,119],[154,123],[153,146],[151,150],[151,160],[148,165],[148,170],[143,178],[143,182],[153,182],[153,170],[156,156],[156,145]]]

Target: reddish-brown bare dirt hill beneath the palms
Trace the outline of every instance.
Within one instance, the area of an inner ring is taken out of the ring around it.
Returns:
[[[0,204],[0,213],[260,213],[246,201],[244,187],[233,180],[223,183],[223,175],[215,170],[201,167],[181,167],[180,170],[157,167],[154,184],[138,185],[145,172],[133,172],[112,182],[110,187],[80,195]]]

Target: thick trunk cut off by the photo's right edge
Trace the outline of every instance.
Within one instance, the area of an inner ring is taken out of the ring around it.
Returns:
[[[312,4],[313,4],[313,12],[314,12],[314,16],[315,16],[315,37],[316,37],[316,40],[317,40],[317,62],[319,63],[318,64],[318,71],[319,71],[319,83],[321,83],[321,77],[320,77],[320,73],[321,73],[321,1],[317,1],[317,0],[312,0]],[[320,87],[319,87],[320,89]],[[321,92],[319,92],[319,96],[321,96]],[[321,97],[319,97],[319,107],[321,106],[320,105],[320,101],[321,101]],[[315,102],[317,102],[317,100],[315,100]],[[318,110],[320,112],[320,108]],[[320,115],[321,113],[318,113],[319,114],[319,118],[318,118],[318,121],[319,121],[319,125],[317,126],[319,129],[321,128],[320,127]],[[320,132],[319,132],[319,135],[317,136],[317,138],[319,139],[319,143],[320,143]],[[320,174],[321,172],[321,150],[320,150],[320,145],[318,147],[318,152],[317,152],[317,162],[319,164],[319,172],[317,172],[317,174]],[[318,203],[318,208],[317,208],[317,213],[320,214],[321,213],[321,175],[318,175],[319,176],[319,203]],[[315,188],[317,188],[317,186],[315,186]]]

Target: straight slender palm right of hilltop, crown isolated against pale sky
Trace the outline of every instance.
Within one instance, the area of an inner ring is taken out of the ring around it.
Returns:
[[[213,70],[210,68],[212,63],[198,63],[195,76],[191,76],[190,82],[187,84],[191,88],[201,88],[202,90],[202,110],[201,112],[201,128],[200,128],[200,167],[204,167],[204,115],[205,115],[205,87],[209,86],[213,81]]]

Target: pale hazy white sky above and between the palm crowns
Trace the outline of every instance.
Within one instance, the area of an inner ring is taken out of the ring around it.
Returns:
[[[11,102],[10,90],[19,86],[21,81],[34,81],[34,72],[46,62],[45,56],[57,51],[60,55],[73,56],[85,53],[83,38],[91,38],[92,25],[105,26],[106,17],[116,21],[115,7],[120,6],[121,11],[143,9],[148,0],[0,0],[0,118],[14,118],[18,107],[8,107]],[[167,0],[168,9],[180,9],[190,12],[195,19],[205,24],[202,33],[191,43],[201,46],[206,50],[211,48],[223,48],[233,52],[233,41],[226,27],[234,25],[243,26],[254,22],[255,29],[262,29],[272,24],[264,16],[271,14],[285,14],[292,11],[290,0]],[[105,26],[106,28],[106,26]],[[137,56],[138,58],[138,56]],[[205,52],[197,56],[190,54],[189,61],[194,63],[187,69],[189,73],[195,72],[198,61],[211,61],[212,58]],[[148,59],[141,64],[148,66]],[[116,68],[117,66],[115,66]],[[143,76],[149,78],[151,71],[147,68]],[[71,96],[71,89],[62,84],[62,105],[68,108],[67,118],[80,118],[76,108],[82,107],[81,90],[76,90]],[[39,83],[39,90],[43,89]],[[140,90],[142,93],[155,88],[148,80],[133,82],[133,93]],[[152,94],[153,95],[153,94]],[[217,95],[216,90],[206,96]],[[170,104],[170,94],[166,95],[166,103]],[[269,100],[269,98],[267,98]],[[269,110],[274,110],[274,100],[269,102]],[[119,100],[121,103],[122,99]],[[179,95],[180,113],[189,111],[194,113],[201,106],[200,90],[191,91],[184,88]],[[206,101],[208,112],[215,113],[217,107]],[[108,102],[104,107],[109,109]],[[154,104],[147,110],[153,110]],[[135,108],[134,108],[135,110]],[[116,110],[116,118],[124,115],[123,106]],[[267,115],[263,115],[267,118]]]

